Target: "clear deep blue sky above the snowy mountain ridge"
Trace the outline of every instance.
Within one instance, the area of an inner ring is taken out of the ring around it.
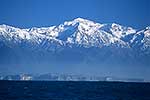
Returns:
[[[150,25],[150,0],[0,0],[0,24],[41,27],[77,17],[141,29]]]

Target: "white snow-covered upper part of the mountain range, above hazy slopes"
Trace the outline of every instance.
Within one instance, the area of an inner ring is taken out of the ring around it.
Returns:
[[[0,25],[0,41],[9,43],[38,45],[51,49],[52,45],[80,45],[83,47],[117,46],[132,48],[141,46],[150,48],[150,28],[137,32],[131,27],[119,24],[100,24],[77,18],[52,27],[20,29],[7,25]]]

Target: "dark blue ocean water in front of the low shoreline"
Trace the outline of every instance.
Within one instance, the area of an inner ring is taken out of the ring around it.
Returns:
[[[0,100],[150,100],[150,83],[0,81]]]

